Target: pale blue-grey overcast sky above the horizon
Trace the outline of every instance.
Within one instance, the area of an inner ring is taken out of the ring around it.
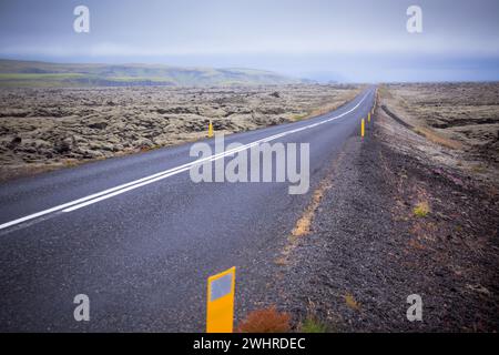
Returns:
[[[90,33],[73,9],[90,9]],[[422,33],[406,10],[422,9]],[[499,80],[498,0],[0,0],[0,57],[246,67],[340,81]]]

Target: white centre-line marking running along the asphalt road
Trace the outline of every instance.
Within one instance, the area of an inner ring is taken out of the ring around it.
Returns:
[[[294,129],[294,130],[289,130],[289,131],[282,132],[282,133],[278,133],[278,134],[274,134],[274,135],[271,135],[271,136],[267,136],[267,138],[264,138],[264,139],[261,139],[261,140],[257,140],[257,141],[251,142],[251,143],[247,143],[247,144],[242,145],[242,146],[236,148],[236,149],[232,149],[232,150],[228,150],[228,151],[224,151],[222,153],[217,153],[217,154],[214,154],[214,155],[211,155],[211,156],[198,159],[196,161],[193,161],[193,162],[190,162],[190,163],[176,166],[176,168],[172,168],[172,169],[169,169],[169,170],[165,170],[165,171],[162,171],[162,172],[159,172],[159,173],[155,173],[155,174],[152,174],[152,175],[139,179],[139,180],[134,180],[134,181],[131,181],[129,183],[121,184],[121,185],[118,185],[118,186],[114,186],[114,187],[111,187],[111,189],[108,189],[108,190],[104,190],[104,191],[101,191],[101,192],[98,192],[98,193],[94,193],[94,194],[81,197],[81,199],[78,199],[78,200],[64,203],[64,204],[60,204],[58,206],[54,206],[54,207],[51,207],[51,209],[48,209],[48,210],[43,210],[43,211],[33,213],[33,214],[30,214],[30,215],[27,215],[27,216],[23,216],[23,217],[20,217],[20,219],[10,221],[10,222],[6,222],[3,224],[0,224],[0,230],[7,229],[9,226],[12,226],[12,225],[16,225],[16,224],[29,221],[29,220],[33,220],[33,219],[40,217],[40,216],[49,214],[49,213],[58,212],[58,211],[61,211],[61,210],[62,210],[62,212],[72,212],[72,211],[79,210],[81,207],[88,206],[90,204],[100,202],[102,200],[106,200],[106,199],[113,197],[115,195],[122,194],[124,192],[128,192],[128,191],[131,191],[131,190],[144,186],[144,185],[151,184],[153,182],[156,182],[156,181],[160,181],[160,180],[163,180],[163,179],[176,175],[176,174],[180,174],[180,173],[182,173],[184,171],[187,171],[193,165],[202,164],[205,161],[215,161],[215,160],[218,160],[221,158],[224,158],[224,156],[227,156],[227,155],[231,155],[231,154],[234,154],[234,153],[247,150],[247,149],[249,149],[252,146],[255,146],[255,145],[257,145],[259,143],[269,142],[269,141],[276,140],[278,138],[286,136],[288,134],[293,134],[293,133],[296,133],[296,132],[308,130],[308,129],[315,128],[317,125],[320,125],[320,124],[324,124],[324,123],[327,123],[327,122],[340,119],[340,118],[347,115],[348,113],[357,110],[357,108],[364,102],[364,100],[366,100],[366,98],[368,95],[369,95],[369,93],[366,93],[364,95],[364,98],[353,109],[350,109],[350,110],[348,110],[348,111],[346,111],[346,112],[344,112],[344,113],[342,113],[339,115],[326,119],[326,120],[320,121],[320,122],[312,123],[312,124],[308,124],[308,125],[305,125],[305,126],[302,126],[302,128],[298,128],[298,129]]]

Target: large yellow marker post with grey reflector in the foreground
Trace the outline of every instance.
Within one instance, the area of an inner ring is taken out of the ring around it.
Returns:
[[[232,333],[234,326],[235,266],[207,280],[206,332]]]

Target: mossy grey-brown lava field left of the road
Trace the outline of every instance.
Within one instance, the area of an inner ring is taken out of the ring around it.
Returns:
[[[305,119],[354,85],[1,89],[0,179]]]

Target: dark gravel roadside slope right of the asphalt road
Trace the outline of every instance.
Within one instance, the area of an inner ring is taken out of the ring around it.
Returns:
[[[266,300],[296,327],[313,316],[332,332],[499,329],[497,190],[411,151],[410,134],[378,110],[332,166],[310,233],[275,266]],[[422,322],[407,321],[410,294]]]

